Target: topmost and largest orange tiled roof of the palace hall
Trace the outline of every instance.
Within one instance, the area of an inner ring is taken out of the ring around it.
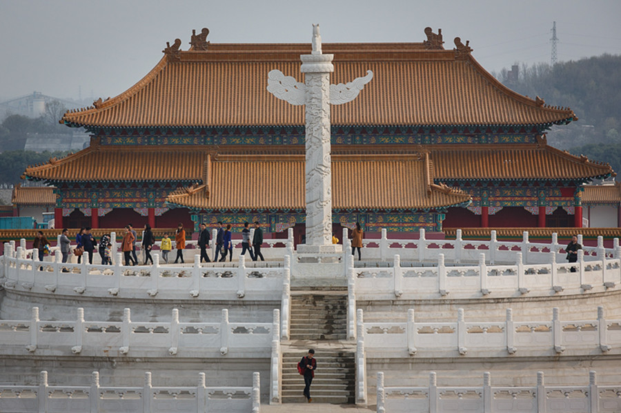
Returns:
[[[461,43],[460,43],[461,44]],[[463,45],[462,45],[463,46]],[[304,81],[299,55],[310,44],[210,44],[165,54],[119,96],[68,112],[61,123],[93,127],[304,125],[304,108],[267,90],[268,72]],[[550,125],[577,119],[506,88],[469,49],[423,43],[324,43],[334,54],[331,83],[373,71],[350,103],[331,106],[333,125]],[[118,62],[124,64],[124,62]]]

